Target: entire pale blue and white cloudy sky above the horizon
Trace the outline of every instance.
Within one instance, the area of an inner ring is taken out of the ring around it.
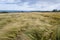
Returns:
[[[0,0],[0,10],[60,9],[60,0]]]

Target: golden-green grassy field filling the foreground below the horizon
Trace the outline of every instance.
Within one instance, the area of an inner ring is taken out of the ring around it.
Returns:
[[[60,40],[60,12],[1,13],[0,40]]]

